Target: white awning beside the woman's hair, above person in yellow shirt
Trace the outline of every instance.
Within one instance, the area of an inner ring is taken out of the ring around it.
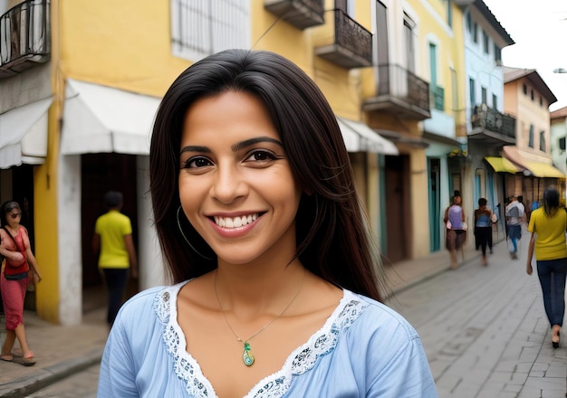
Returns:
[[[149,155],[161,100],[83,81],[67,81],[61,153]]]

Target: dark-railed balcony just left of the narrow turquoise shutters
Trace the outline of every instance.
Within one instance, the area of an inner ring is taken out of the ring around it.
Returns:
[[[381,110],[409,120],[431,117],[427,81],[399,65],[380,65],[378,75],[377,96],[365,100],[363,110]]]

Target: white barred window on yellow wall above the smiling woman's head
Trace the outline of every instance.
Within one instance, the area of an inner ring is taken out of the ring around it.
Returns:
[[[229,48],[250,48],[249,1],[170,2],[173,55],[198,61]]]

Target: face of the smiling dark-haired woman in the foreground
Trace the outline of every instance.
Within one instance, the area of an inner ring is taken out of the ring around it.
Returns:
[[[183,211],[219,261],[291,261],[302,191],[262,102],[235,91],[197,100],[179,149]]]

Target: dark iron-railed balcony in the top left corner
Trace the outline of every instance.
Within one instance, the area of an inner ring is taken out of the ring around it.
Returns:
[[[0,79],[48,62],[50,0],[28,0],[0,16]]]

